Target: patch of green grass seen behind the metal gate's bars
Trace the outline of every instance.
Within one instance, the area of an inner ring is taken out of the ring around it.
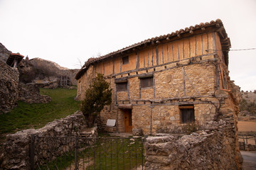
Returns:
[[[135,139],[132,142],[129,138],[115,139],[110,136],[97,138],[95,145],[90,145],[90,147],[86,143],[79,145],[78,160],[79,169],[134,169],[135,166],[139,167],[145,163],[141,139]],[[90,167],[88,160],[90,160]],[[74,162],[75,151],[72,150],[52,162],[45,162],[40,169],[56,169],[56,167],[58,169],[70,169],[70,167],[74,169]]]

